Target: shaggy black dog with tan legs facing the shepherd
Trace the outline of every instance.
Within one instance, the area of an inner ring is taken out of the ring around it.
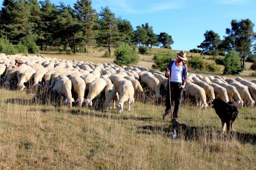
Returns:
[[[236,120],[236,116],[238,115],[238,106],[235,101],[229,101],[226,103],[221,99],[214,99],[212,101],[212,108],[215,109],[216,114],[220,117],[222,124],[222,134],[226,130],[229,132],[230,126],[233,128],[233,123]]]

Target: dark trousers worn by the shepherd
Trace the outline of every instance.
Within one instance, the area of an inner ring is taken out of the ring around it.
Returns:
[[[171,100],[172,102],[174,101],[175,105],[174,105],[174,109],[173,109],[173,118],[177,118],[178,117],[178,113],[180,110],[180,103],[182,102],[183,99],[183,88],[180,88],[179,83],[174,83],[171,82],[170,86],[171,86]],[[171,103],[170,103],[170,92],[169,92],[169,87],[167,88],[167,92],[166,92],[166,99],[165,99],[165,115],[169,115],[171,112]]]

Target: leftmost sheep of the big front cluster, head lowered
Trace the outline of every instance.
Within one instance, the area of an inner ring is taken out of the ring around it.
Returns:
[[[55,87],[53,88],[54,93],[59,92],[66,97],[64,104],[68,104],[68,107],[72,107],[72,102],[75,100],[72,98],[71,94],[72,83],[68,77],[61,77]]]

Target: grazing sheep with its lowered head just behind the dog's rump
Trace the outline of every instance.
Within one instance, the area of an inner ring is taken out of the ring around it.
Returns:
[[[224,87],[227,90],[228,96],[230,98],[233,98],[234,100],[236,100],[237,105],[242,108],[244,105],[244,101],[242,100],[242,98],[240,97],[239,92],[236,90],[236,87],[233,85],[229,85],[226,83],[223,83],[222,81],[215,81],[214,83],[220,85],[221,87]]]

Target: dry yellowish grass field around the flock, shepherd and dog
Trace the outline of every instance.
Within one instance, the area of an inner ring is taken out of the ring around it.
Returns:
[[[99,57],[104,51],[93,48],[87,54],[41,54],[94,63],[114,60]],[[140,55],[138,65],[151,66],[152,57]],[[252,79],[248,75],[241,77]],[[221,137],[221,122],[214,109],[202,110],[186,101],[180,108],[178,137],[172,139],[171,117],[162,120],[164,99],[157,105],[147,97],[146,102],[135,102],[131,112],[124,105],[124,112],[117,114],[114,109],[68,108],[44,90],[21,92],[2,87],[0,94],[0,169],[256,167],[255,107],[239,109],[236,131]]]

